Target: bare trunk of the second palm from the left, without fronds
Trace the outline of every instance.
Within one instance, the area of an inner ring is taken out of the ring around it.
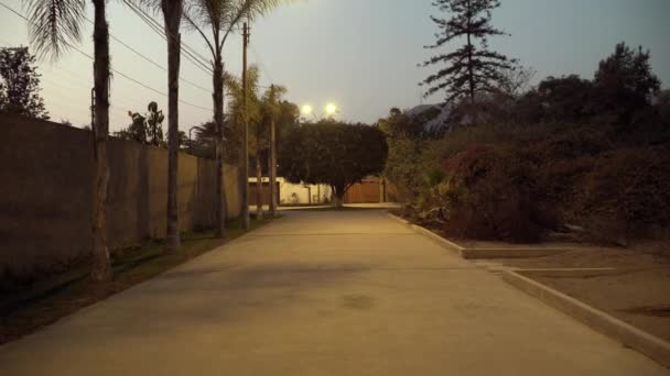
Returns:
[[[182,0],[162,0],[165,34],[168,35],[168,221],[165,252],[180,248],[180,225],[177,206],[177,169],[180,147],[179,95],[180,95],[180,55],[182,22]]]

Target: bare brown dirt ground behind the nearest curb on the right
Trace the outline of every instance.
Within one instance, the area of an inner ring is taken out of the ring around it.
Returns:
[[[615,275],[532,278],[670,341],[670,257],[667,251],[662,245],[648,243],[635,248],[579,244],[572,251],[556,255],[491,262],[521,269],[622,269]]]

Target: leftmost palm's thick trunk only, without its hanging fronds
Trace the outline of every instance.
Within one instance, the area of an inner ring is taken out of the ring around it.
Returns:
[[[93,208],[93,265],[90,276],[95,281],[111,279],[111,265],[107,248],[107,134],[109,132],[109,26],[105,0],[94,0],[94,80],[95,117],[94,132],[95,187]]]

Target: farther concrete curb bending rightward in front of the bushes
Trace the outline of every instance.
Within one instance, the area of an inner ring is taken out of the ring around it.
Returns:
[[[466,248],[461,246],[454,242],[451,242],[436,233],[422,228],[417,224],[412,224],[407,220],[388,213],[390,218],[400,222],[410,229],[414,230],[414,232],[422,234],[431,240],[440,243],[445,248],[457,252],[461,257],[465,259],[486,259],[486,258],[529,258],[529,257],[543,257],[551,256],[559,253],[568,252],[570,248]]]

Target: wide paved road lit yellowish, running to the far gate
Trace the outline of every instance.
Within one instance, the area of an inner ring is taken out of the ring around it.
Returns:
[[[291,212],[0,347],[1,375],[669,375],[386,217]]]

